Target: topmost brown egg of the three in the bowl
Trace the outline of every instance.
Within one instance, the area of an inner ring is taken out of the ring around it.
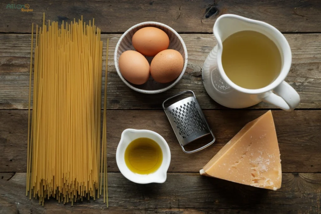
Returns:
[[[155,56],[169,46],[167,34],[154,27],[145,27],[134,33],[132,38],[134,48],[145,56]]]

